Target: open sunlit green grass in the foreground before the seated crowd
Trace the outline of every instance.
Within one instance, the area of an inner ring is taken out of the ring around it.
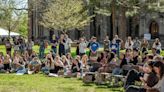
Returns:
[[[124,92],[123,88],[84,85],[75,78],[54,78],[37,75],[0,75],[0,92]]]

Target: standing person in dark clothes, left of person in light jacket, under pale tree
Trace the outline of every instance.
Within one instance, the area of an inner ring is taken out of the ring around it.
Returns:
[[[62,55],[65,55],[65,39],[64,39],[64,35],[61,34],[60,35],[60,39],[59,39],[59,55],[62,56]]]

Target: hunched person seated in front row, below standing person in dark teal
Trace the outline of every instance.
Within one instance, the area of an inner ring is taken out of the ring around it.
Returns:
[[[38,73],[41,68],[41,62],[38,57],[34,57],[28,65],[28,74]]]

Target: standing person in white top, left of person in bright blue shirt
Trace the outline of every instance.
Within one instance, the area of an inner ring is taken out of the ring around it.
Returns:
[[[80,44],[79,44],[79,53],[80,53],[80,56],[85,55],[86,48],[87,48],[87,44],[84,41],[84,38],[80,38]]]

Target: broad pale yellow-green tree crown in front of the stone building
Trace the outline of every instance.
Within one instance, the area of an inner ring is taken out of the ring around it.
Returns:
[[[91,22],[83,0],[51,0],[42,15],[40,24],[63,33],[83,29]]]

